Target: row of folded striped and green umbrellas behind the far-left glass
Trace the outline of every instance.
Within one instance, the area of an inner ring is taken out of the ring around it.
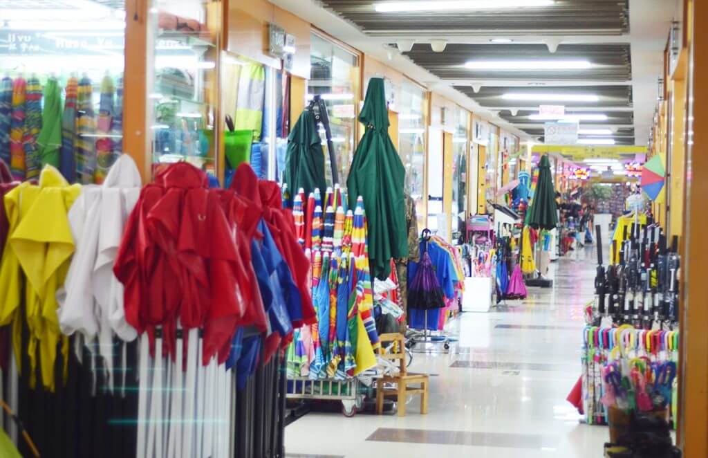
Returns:
[[[122,79],[103,77],[96,107],[93,91],[89,77],[69,77],[62,104],[62,88],[54,75],[43,88],[34,74],[2,79],[0,159],[10,166],[14,179],[36,180],[49,164],[70,183],[103,183],[120,155]]]

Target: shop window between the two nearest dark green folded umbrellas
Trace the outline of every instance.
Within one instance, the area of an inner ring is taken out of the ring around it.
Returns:
[[[315,33],[310,48],[310,79],[307,99],[319,95],[325,101],[334,145],[336,169],[341,184],[346,183],[355,151],[355,128],[359,93],[359,58],[345,48]],[[328,184],[332,183],[331,162],[326,152],[324,128],[319,130],[325,155]]]

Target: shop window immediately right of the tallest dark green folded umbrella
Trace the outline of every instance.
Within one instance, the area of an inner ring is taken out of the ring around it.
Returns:
[[[426,224],[423,179],[426,167],[426,93],[410,83],[401,85],[399,108],[399,155],[406,168],[406,193],[416,202],[418,230]]]

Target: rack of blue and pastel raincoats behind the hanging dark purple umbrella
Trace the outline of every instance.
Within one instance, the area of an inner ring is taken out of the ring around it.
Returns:
[[[438,287],[442,289],[442,301],[435,308],[416,308],[409,296],[409,327],[421,330],[442,330],[450,313],[456,313],[457,303],[464,293],[464,267],[457,247],[450,245],[438,235],[426,236],[423,231],[420,242],[421,262],[423,253],[428,253],[435,270]],[[413,279],[421,262],[409,262],[408,283],[413,289]],[[412,291],[411,291],[412,293]]]

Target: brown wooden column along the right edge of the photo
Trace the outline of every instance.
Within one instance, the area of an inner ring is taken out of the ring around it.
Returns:
[[[687,75],[685,130],[693,132],[693,140],[686,143],[678,442],[685,458],[704,458],[708,457],[708,306],[704,287],[708,277],[708,34],[695,26],[708,21],[708,3],[685,3],[688,61],[692,63],[692,72]]]

